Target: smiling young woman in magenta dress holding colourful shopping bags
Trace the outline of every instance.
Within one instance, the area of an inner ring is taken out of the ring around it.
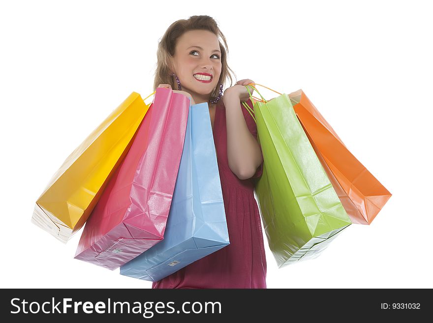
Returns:
[[[209,16],[176,21],[158,44],[154,88],[173,88],[191,104],[208,103],[230,244],[154,282],[153,288],[266,288],[263,234],[254,199],[263,155],[255,122],[241,104],[247,101],[252,108],[245,85],[253,81],[231,86],[227,53],[226,39]],[[227,78],[230,87],[223,94]]]

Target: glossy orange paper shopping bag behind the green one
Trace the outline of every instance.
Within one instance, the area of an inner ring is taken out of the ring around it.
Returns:
[[[341,203],[352,223],[371,224],[391,193],[347,149],[302,90],[289,97],[323,168],[335,178],[334,188],[340,191]]]

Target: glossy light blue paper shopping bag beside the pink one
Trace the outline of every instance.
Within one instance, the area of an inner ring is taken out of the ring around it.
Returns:
[[[158,281],[229,243],[209,107],[200,103],[190,107],[164,239],[120,273]]]

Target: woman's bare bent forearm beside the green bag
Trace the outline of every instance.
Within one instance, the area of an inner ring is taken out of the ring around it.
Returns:
[[[260,146],[248,130],[241,110],[240,95],[236,91],[226,91],[223,98],[227,124],[228,165],[239,179],[247,179],[254,176],[262,163]]]

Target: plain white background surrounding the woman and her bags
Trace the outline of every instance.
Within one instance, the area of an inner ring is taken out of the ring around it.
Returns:
[[[2,1],[2,288],[150,288],[75,260],[31,223],[65,158],[132,91],[152,92],[156,46],[178,19],[214,17],[237,80],[302,88],[393,194],[268,288],[432,288],[432,10],[428,1]],[[265,97],[275,95],[263,90]]]

